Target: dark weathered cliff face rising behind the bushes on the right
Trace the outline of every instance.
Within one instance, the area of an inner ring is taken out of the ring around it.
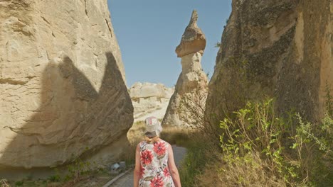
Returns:
[[[233,0],[232,8],[209,83],[212,123],[263,96],[281,113],[322,118],[325,85],[333,89],[332,1]]]

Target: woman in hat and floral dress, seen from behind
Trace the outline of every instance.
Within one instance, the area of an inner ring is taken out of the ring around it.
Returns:
[[[146,119],[146,140],[135,153],[134,187],[181,187],[171,145],[159,138],[162,126],[155,117]]]

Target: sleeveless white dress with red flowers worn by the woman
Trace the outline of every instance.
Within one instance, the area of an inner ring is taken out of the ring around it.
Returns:
[[[139,143],[141,164],[139,187],[174,187],[168,167],[168,146],[164,140]]]

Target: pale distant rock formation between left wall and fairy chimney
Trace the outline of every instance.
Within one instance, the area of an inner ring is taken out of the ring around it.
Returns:
[[[163,119],[174,88],[163,84],[137,82],[129,89],[134,106],[134,122],[142,121],[149,116]]]

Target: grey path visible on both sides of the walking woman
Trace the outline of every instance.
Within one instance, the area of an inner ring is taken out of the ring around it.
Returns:
[[[181,160],[184,158],[186,154],[186,148],[184,147],[177,147],[175,145],[172,146],[174,150],[174,161],[176,162],[177,167],[179,168]],[[112,183],[110,187],[131,187],[133,186],[133,171],[129,172],[125,176],[122,176],[119,180],[115,183]]]

